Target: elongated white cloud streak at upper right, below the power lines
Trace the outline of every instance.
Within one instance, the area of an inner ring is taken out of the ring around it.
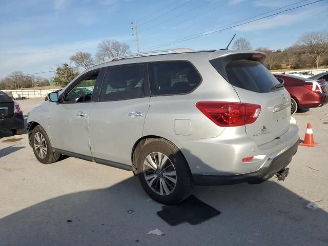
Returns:
[[[236,31],[259,31],[259,30],[267,30],[276,27],[289,26],[291,24],[295,24],[300,21],[304,21],[310,17],[314,17],[314,15],[318,15],[318,13],[326,11],[327,7],[320,8],[312,8],[300,13],[295,14],[280,14],[273,17],[265,18],[257,20],[253,23],[245,24],[239,27],[233,28]]]

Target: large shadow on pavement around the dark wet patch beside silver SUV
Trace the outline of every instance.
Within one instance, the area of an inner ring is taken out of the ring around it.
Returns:
[[[309,201],[283,185],[271,179],[261,185],[195,187],[193,195],[221,214],[195,226],[170,227],[156,214],[162,205],[131,177],[105,189],[54,197],[0,219],[1,244],[327,245],[328,214],[305,209]],[[156,228],[166,235],[147,235]]]

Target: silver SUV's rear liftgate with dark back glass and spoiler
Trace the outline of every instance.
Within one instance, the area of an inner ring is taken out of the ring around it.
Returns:
[[[240,53],[210,60],[216,70],[234,87],[241,103],[261,106],[257,120],[245,125],[247,135],[257,145],[278,138],[290,126],[291,97],[265,68],[263,53]]]

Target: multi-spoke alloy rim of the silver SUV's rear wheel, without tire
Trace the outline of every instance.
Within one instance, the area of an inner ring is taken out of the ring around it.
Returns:
[[[177,175],[170,158],[163,153],[153,152],[144,161],[144,175],[148,186],[157,194],[171,194],[177,182]]]

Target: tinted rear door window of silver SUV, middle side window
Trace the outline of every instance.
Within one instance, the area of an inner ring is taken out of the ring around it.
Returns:
[[[145,66],[136,64],[107,68],[101,86],[101,100],[122,100],[145,96]]]

